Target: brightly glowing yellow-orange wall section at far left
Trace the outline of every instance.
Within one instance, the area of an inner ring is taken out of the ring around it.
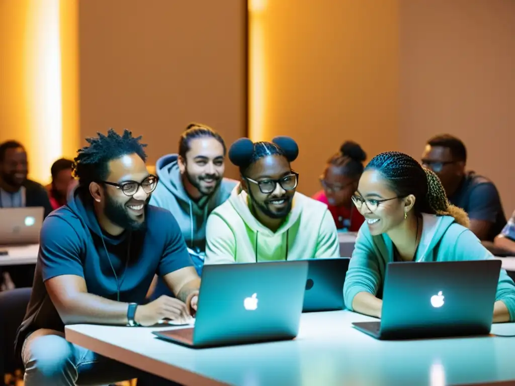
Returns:
[[[41,183],[78,146],[76,9],[76,0],[0,0],[0,143],[21,142]]]

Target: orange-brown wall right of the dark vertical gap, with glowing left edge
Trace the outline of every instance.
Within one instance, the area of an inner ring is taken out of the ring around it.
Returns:
[[[369,158],[400,150],[420,159],[428,137],[448,132],[465,142],[468,166],[495,182],[505,211],[515,209],[515,180],[503,170],[515,144],[513,0],[251,5],[250,38],[258,26],[263,57],[251,47],[250,77],[254,58],[264,85],[263,106],[250,90],[250,116],[263,110],[250,133],[297,139],[300,191],[319,189],[325,161],[346,139]]]

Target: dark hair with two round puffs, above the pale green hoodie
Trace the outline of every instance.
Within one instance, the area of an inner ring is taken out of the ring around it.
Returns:
[[[239,138],[229,149],[229,160],[239,167],[242,176],[256,161],[267,155],[283,156],[293,162],[299,155],[299,147],[293,138],[278,136],[272,142],[253,143],[249,138]]]

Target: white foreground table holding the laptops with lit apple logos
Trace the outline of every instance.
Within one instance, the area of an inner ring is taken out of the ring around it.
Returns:
[[[294,341],[191,349],[144,327],[73,325],[66,339],[185,385],[431,385],[515,380],[515,338],[379,341],[349,311],[305,313]],[[159,328],[159,327],[158,327]],[[161,327],[162,328],[162,327]],[[168,327],[170,328],[170,327]],[[515,323],[493,332],[515,334]]]

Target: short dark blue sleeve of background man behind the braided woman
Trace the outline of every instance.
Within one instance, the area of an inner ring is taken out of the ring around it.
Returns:
[[[495,222],[502,209],[499,192],[491,182],[481,183],[472,188],[469,198],[468,215],[471,220]]]

